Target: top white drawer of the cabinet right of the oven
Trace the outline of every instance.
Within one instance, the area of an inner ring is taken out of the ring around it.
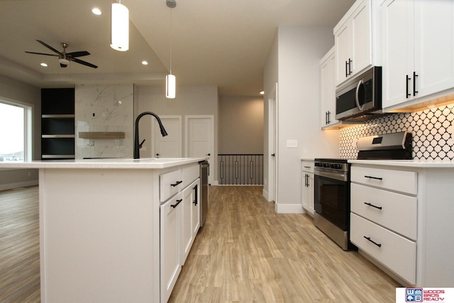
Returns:
[[[351,167],[351,180],[397,192],[416,194],[418,191],[416,172],[404,170],[383,170],[372,167]]]

